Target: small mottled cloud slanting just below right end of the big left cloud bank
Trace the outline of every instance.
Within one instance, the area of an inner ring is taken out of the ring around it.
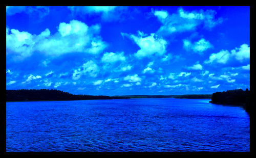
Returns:
[[[78,69],[75,69],[72,75],[73,80],[78,80],[82,75],[89,74],[91,77],[96,77],[99,72],[98,65],[92,60],[84,63]]]

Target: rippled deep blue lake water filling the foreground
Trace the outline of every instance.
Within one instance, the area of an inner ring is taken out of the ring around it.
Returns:
[[[209,99],[6,103],[6,151],[250,151],[250,117]]]

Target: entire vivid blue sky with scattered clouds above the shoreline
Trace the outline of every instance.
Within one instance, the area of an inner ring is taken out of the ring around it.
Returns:
[[[6,89],[87,95],[250,89],[250,7],[6,7]]]

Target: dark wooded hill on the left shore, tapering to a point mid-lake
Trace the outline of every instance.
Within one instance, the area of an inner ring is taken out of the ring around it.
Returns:
[[[38,100],[92,100],[92,99],[127,99],[129,97],[111,97],[103,95],[74,95],[60,90],[21,89],[6,90],[6,101],[38,101]]]

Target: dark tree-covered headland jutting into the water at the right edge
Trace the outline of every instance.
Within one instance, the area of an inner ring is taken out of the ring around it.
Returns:
[[[230,104],[242,106],[248,113],[250,112],[250,91],[246,89],[228,90],[226,92],[216,92],[211,96],[211,103]]]

